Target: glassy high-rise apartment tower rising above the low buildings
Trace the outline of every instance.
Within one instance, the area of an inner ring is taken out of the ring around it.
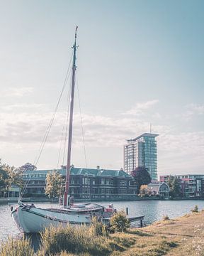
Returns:
[[[135,168],[145,166],[157,181],[157,141],[158,134],[145,133],[135,139],[127,139],[124,146],[124,171],[130,174]]]

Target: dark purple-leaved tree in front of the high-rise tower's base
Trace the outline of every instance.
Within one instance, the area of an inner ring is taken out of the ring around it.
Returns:
[[[151,176],[145,166],[137,167],[134,171],[131,171],[130,175],[135,179],[137,194],[140,193],[140,186],[147,185],[151,182]]]

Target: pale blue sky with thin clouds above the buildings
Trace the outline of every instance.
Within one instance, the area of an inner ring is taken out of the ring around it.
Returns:
[[[72,164],[120,169],[126,139],[152,124],[158,176],[204,174],[203,9],[202,0],[0,0],[1,161],[35,163],[77,25]],[[67,105],[64,93],[38,169],[65,164]]]

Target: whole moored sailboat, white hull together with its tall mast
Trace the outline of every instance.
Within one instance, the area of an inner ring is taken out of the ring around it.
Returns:
[[[101,206],[97,203],[77,203],[74,204],[72,197],[69,196],[69,176],[71,166],[71,149],[72,149],[72,123],[73,123],[73,110],[74,110],[74,85],[75,85],[75,72],[76,66],[76,53],[77,53],[77,26],[75,30],[75,39],[72,63],[72,87],[70,94],[70,107],[69,107],[69,137],[68,137],[68,150],[67,150],[67,170],[66,170],[66,183],[63,196],[63,207],[60,208],[39,208],[35,207],[33,203],[24,204],[18,202],[16,208],[11,209],[11,216],[18,225],[19,230],[24,233],[39,233],[45,228],[53,225],[90,225],[93,217],[98,218],[98,221],[107,223],[114,213],[113,205]]]

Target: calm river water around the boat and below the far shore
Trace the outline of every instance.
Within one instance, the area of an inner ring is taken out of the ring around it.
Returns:
[[[110,202],[111,203],[111,202]],[[101,202],[101,204],[108,204]],[[130,216],[145,215],[144,224],[148,225],[154,221],[161,220],[164,215],[169,218],[176,218],[186,213],[190,213],[196,205],[198,210],[204,209],[204,201],[201,200],[186,200],[186,201],[120,201],[113,202],[117,210],[125,210],[129,208]],[[35,203],[35,206],[40,207],[58,207],[53,203]],[[11,218],[11,210],[8,205],[0,205],[0,240],[8,238],[8,235],[16,238],[22,237],[22,234],[16,227],[16,224]]]

